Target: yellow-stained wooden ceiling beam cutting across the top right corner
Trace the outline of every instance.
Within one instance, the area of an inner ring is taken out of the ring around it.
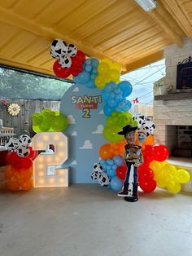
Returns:
[[[177,21],[177,24],[185,32],[186,36],[192,39],[192,26],[178,2],[176,0],[161,0],[161,2],[170,15],[172,15],[172,18]]]

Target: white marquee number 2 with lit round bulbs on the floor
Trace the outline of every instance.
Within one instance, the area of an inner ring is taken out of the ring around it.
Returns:
[[[68,187],[68,169],[57,169],[68,159],[68,138],[61,132],[40,132],[33,137],[33,150],[46,150],[50,144],[55,152],[41,153],[33,161],[34,188]]]

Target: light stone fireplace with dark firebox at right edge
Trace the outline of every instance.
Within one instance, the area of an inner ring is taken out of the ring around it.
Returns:
[[[192,174],[192,148],[190,148],[192,141],[192,91],[174,91],[177,86],[177,64],[189,58],[190,55],[192,55],[192,42],[188,38],[183,41],[182,48],[172,45],[164,49],[166,64],[164,85],[171,86],[173,91],[167,95],[155,95],[154,122],[156,125],[155,143],[167,145],[171,152],[170,163],[185,167]],[[181,152],[180,156],[179,152]],[[172,157],[173,155],[175,156]]]

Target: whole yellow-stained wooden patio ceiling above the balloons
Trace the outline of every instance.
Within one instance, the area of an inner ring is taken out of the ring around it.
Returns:
[[[192,38],[191,0],[0,0],[0,64],[53,74],[50,42],[62,38],[124,73],[163,58],[164,46]]]

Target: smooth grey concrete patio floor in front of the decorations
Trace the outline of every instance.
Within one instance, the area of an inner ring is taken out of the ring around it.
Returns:
[[[98,185],[0,194],[1,256],[192,255],[192,194],[129,203]]]

